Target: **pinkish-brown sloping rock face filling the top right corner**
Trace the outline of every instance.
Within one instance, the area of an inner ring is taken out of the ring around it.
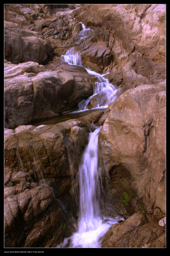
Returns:
[[[121,72],[120,86],[127,90],[165,78],[165,9],[164,4],[85,4],[71,15],[111,51],[103,70]]]

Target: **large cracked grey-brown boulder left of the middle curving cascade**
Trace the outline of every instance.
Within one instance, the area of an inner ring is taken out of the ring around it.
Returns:
[[[56,70],[57,66],[48,70],[34,62],[18,65],[6,62],[5,128],[14,129],[35,119],[55,117],[88,98],[96,78],[89,75],[85,68],[73,68],[75,72],[61,68]]]

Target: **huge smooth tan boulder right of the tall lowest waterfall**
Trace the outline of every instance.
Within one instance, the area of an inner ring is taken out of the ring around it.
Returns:
[[[166,211],[165,97],[161,83],[128,90],[108,107],[99,133],[108,170],[122,165],[130,172],[131,185],[149,213]]]

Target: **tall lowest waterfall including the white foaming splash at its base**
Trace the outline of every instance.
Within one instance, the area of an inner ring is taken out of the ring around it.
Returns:
[[[79,166],[78,231],[65,238],[63,243],[57,247],[100,248],[107,230],[118,221],[124,220],[120,216],[112,218],[100,216],[100,180],[102,177],[98,166],[98,135],[101,126],[95,128],[94,132],[89,134],[89,141]]]

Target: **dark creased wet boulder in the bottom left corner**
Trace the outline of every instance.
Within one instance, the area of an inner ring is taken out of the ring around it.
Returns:
[[[20,175],[28,174],[20,172]],[[4,201],[5,247],[49,247],[60,243],[65,232],[70,232],[73,220],[63,212],[52,188],[27,182],[25,189],[18,190],[22,183],[20,180],[5,189],[15,189],[15,194],[6,196]]]

